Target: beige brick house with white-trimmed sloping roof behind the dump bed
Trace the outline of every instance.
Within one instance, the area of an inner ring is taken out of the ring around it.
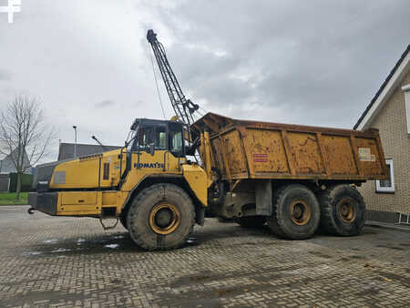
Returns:
[[[370,221],[407,221],[410,214],[410,45],[371,100],[354,129],[378,128],[388,180],[360,188]]]

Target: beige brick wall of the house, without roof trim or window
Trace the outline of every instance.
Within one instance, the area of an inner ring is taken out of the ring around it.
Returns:
[[[393,159],[395,180],[394,193],[375,192],[374,180],[364,183],[360,191],[370,211],[410,213],[410,134],[407,131],[410,119],[405,116],[405,91],[402,89],[409,84],[410,71],[369,125],[380,130],[385,159]]]

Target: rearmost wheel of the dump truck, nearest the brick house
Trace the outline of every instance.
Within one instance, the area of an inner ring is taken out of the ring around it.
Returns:
[[[360,234],[366,206],[360,192],[350,185],[336,185],[319,193],[321,229],[341,236]]]

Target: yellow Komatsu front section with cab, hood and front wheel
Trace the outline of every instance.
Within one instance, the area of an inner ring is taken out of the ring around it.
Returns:
[[[194,223],[203,224],[210,186],[186,158],[184,129],[178,121],[138,118],[121,149],[37,166],[29,204],[52,216],[118,219],[149,250],[179,246]],[[143,233],[163,240],[141,240]]]

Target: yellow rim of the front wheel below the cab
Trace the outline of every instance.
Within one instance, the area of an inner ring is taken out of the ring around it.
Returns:
[[[160,202],[149,213],[149,227],[158,234],[169,234],[175,231],[179,222],[179,210],[168,202]]]

